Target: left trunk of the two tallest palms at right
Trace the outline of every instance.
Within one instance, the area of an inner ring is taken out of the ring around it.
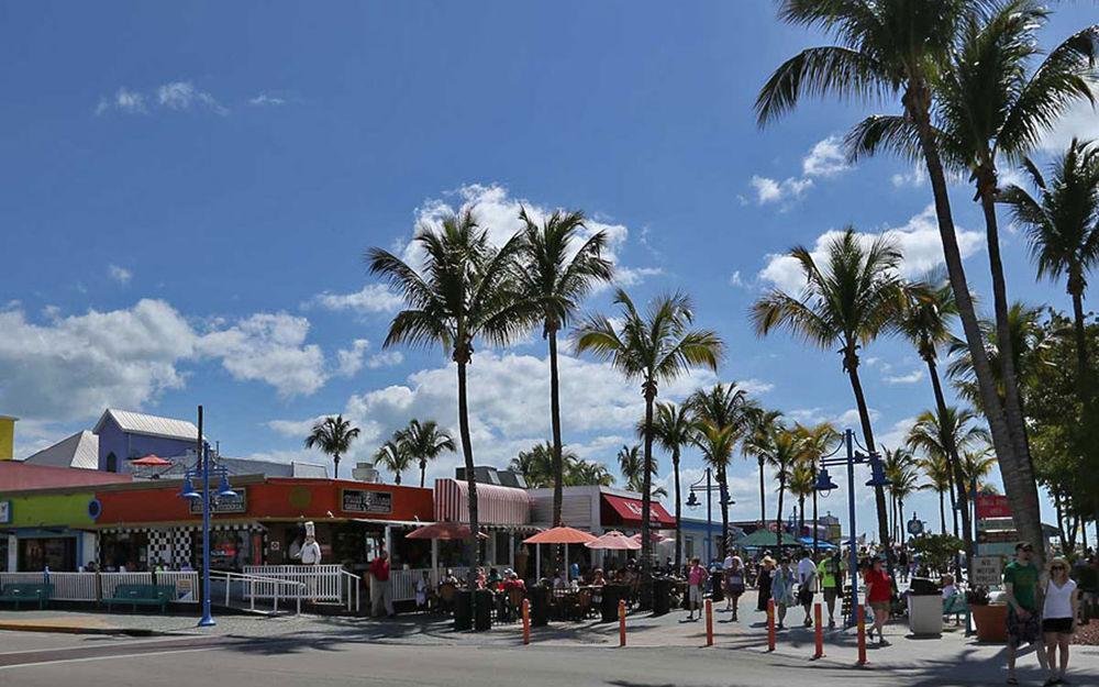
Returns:
[[[912,79],[903,97],[906,114],[913,121],[919,132],[920,148],[928,166],[928,178],[935,200],[935,218],[939,222],[939,235],[943,242],[943,257],[946,272],[951,278],[951,287],[958,306],[958,317],[965,332],[969,355],[973,358],[974,373],[980,390],[981,406],[988,419],[989,431],[992,434],[992,445],[1001,467],[1004,490],[1014,513],[1015,527],[1022,538],[1032,543],[1035,553],[1043,551],[1041,510],[1037,500],[1037,488],[1034,484],[1034,472],[1030,456],[1020,451],[1013,441],[1012,428],[1003,412],[996,391],[996,379],[985,351],[984,336],[977,323],[977,313],[969,285],[962,264],[962,252],[958,248],[957,235],[954,230],[954,218],[951,213],[950,195],[946,188],[946,175],[935,143],[934,130],[931,125],[931,89],[926,82]],[[1041,556],[1039,563],[1041,564]]]

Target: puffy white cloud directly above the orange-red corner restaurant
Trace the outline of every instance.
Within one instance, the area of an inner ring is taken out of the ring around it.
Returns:
[[[211,332],[198,351],[220,357],[237,380],[259,380],[279,396],[309,396],[328,379],[324,355],[317,344],[306,344],[309,320],[287,313],[257,313],[229,329]]]

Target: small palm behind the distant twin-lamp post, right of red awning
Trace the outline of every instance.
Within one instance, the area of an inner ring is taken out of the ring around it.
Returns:
[[[717,473],[721,487],[721,556],[724,557],[729,542],[729,463],[736,442],[747,426],[750,415],[746,410],[751,402],[744,389],[736,388],[736,384],[732,383],[699,389],[690,395],[686,406],[695,423],[695,443]]]

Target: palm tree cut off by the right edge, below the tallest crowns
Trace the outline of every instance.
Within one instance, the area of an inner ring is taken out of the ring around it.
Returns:
[[[1084,320],[1084,292],[1088,273],[1099,264],[1099,146],[1073,140],[1052,165],[1050,182],[1037,166],[1025,160],[1039,199],[1022,187],[1010,186],[1000,195],[1015,223],[1026,228],[1037,276],[1066,278],[1073,299],[1077,380],[1084,405],[1084,426],[1097,421],[1096,389],[1089,362]]]

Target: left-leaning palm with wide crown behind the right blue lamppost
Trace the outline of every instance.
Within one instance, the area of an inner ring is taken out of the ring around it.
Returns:
[[[855,395],[863,439],[873,453],[874,429],[858,378],[858,348],[891,326],[900,310],[903,290],[897,268],[901,255],[885,236],[865,246],[850,226],[831,239],[824,252],[824,261],[818,264],[804,246],[790,251],[806,278],[800,298],[773,289],[753,306],[752,320],[758,335],[785,328],[810,345],[825,351],[839,348]],[[874,488],[874,498],[878,535],[891,567],[886,498],[880,486]]]

